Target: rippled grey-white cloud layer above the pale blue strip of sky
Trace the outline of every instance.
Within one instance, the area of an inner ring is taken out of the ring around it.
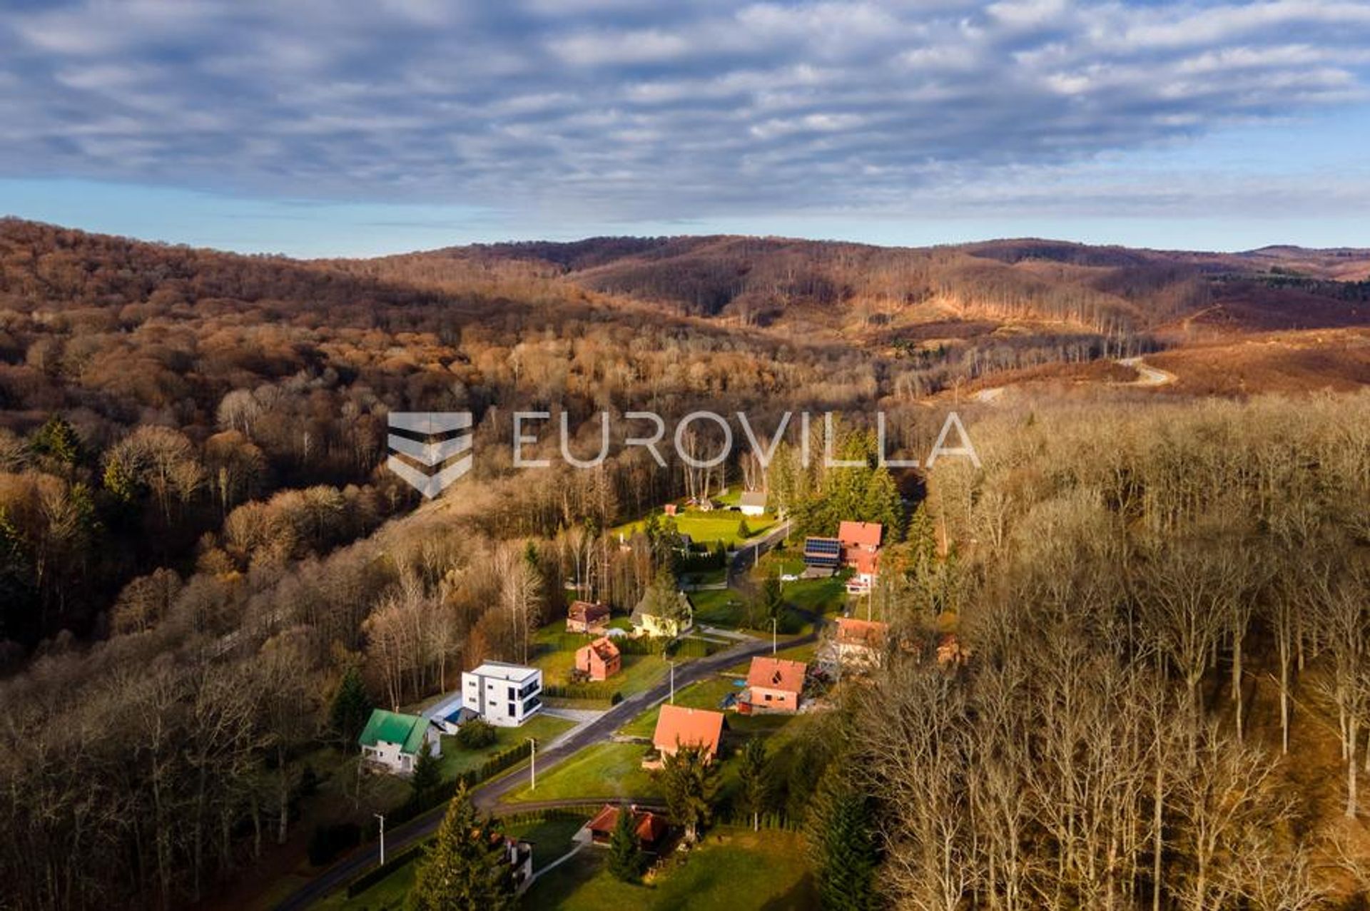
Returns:
[[[875,211],[1358,103],[1367,25],[1334,0],[67,0],[0,22],[0,177]]]

